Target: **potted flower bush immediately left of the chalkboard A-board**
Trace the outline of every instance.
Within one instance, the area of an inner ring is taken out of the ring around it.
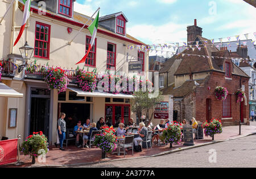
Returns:
[[[170,125],[168,125],[167,128],[164,129],[163,135],[160,137],[161,140],[164,140],[165,143],[170,143],[170,148],[172,148],[172,143],[178,143],[181,142],[181,124],[178,124],[175,122],[172,122]]]

